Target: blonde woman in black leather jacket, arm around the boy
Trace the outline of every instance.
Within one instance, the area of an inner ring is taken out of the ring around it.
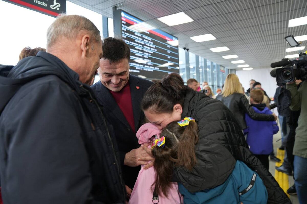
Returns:
[[[247,98],[242,94],[242,87],[239,78],[235,74],[228,74],[225,80],[223,91],[216,97],[229,108],[235,119],[237,119],[240,128],[243,130],[246,128],[245,113],[247,113],[252,119],[258,121],[275,121],[277,117],[275,115],[265,115],[256,113],[249,104]],[[275,118],[276,117],[276,118]]]

